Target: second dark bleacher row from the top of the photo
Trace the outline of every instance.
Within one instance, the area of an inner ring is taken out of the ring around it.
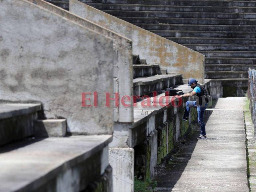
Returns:
[[[256,7],[223,7],[223,6],[181,6],[181,5],[144,5],[144,4],[104,4],[86,3],[99,10],[127,11],[169,11],[169,12],[221,12],[221,13],[255,13]]]

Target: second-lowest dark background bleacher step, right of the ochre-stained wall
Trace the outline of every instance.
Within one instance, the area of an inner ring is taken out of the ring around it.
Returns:
[[[219,64],[219,65],[205,65],[205,72],[211,72],[211,71],[246,71],[248,72],[248,69],[254,69],[256,68],[256,65],[225,65],[225,64]]]

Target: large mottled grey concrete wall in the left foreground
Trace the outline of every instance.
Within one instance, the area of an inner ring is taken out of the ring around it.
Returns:
[[[0,5],[1,99],[42,103],[73,134],[112,134],[113,41],[25,0]],[[98,107],[81,107],[81,92],[96,90]]]

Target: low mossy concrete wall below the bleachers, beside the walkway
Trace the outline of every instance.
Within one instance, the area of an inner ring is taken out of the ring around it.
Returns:
[[[184,98],[183,102],[185,103],[186,101],[187,99]],[[178,105],[178,101],[175,102]],[[138,137],[133,140],[133,145],[136,143],[134,146],[134,170],[138,178],[142,180],[152,178],[156,165],[162,163],[163,158],[173,150],[178,139],[188,131],[191,123],[197,120],[195,108],[190,110],[189,121],[181,120],[183,114],[183,105],[179,107],[170,106],[163,108],[163,110],[155,111],[145,123],[133,128],[133,136],[137,135]],[[154,119],[154,122],[152,119]],[[141,130],[148,131],[148,124],[153,127],[153,130],[149,132],[146,139],[141,141],[141,138],[143,138],[143,131]]]

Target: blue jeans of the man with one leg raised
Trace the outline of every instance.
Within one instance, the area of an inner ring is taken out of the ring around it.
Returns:
[[[205,124],[204,124],[204,111],[206,110],[206,107],[203,106],[196,106],[196,101],[187,101],[186,102],[186,110],[185,110],[185,117],[188,117],[190,107],[196,107],[197,110],[197,120],[201,127],[201,134],[206,135],[205,132]]]

